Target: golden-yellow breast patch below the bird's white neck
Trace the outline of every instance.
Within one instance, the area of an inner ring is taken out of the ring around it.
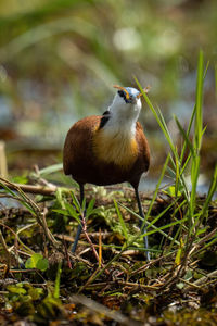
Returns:
[[[125,133],[107,134],[103,129],[93,136],[93,152],[100,161],[130,168],[138,155],[136,139]]]

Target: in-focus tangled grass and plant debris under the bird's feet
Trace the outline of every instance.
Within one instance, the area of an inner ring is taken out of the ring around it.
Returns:
[[[196,195],[206,131],[206,71],[201,51],[195,105],[188,127],[175,116],[182,137],[180,152],[162,112],[143,93],[170,148],[155,191],[142,197],[151,262],[145,262],[137,227],[140,216],[129,188],[125,195],[117,187],[88,189],[84,237],[73,255],[68,244],[85,203],[79,204],[76,186],[68,189],[49,184],[49,174],[61,165],[31,174],[31,180],[34,177],[39,185],[31,187],[31,192],[39,193],[34,198],[22,190],[25,185],[0,179],[0,196],[21,204],[16,211],[4,211],[1,220],[2,324],[24,318],[60,325],[110,325],[111,321],[126,325],[215,325],[217,201],[213,197],[217,165],[206,196]],[[165,174],[170,175],[171,183],[162,189]],[[44,183],[46,188],[40,186]]]

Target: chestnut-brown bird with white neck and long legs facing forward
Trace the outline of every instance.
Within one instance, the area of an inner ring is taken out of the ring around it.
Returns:
[[[71,175],[79,185],[81,204],[86,184],[107,186],[129,183],[135,189],[142,228],[145,217],[139,183],[150,167],[149,142],[138,122],[142,92],[133,87],[113,87],[117,89],[116,95],[102,115],[86,116],[68,130],[63,149],[63,170],[65,175]],[[148,91],[148,88],[143,91]],[[81,231],[82,226],[79,224],[73,253]],[[145,225],[141,231],[145,234]],[[148,236],[143,239],[146,260],[150,261]]]

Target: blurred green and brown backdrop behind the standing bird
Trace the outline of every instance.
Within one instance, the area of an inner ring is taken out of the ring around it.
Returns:
[[[9,174],[60,163],[69,126],[101,114],[114,84],[151,86],[179,143],[195,98],[199,50],[209,62],[204,91],[203,184],[217,161],[216,0],[1,0],[0,140]],[[156,179],[168,148],[145,103],[141,114]]]

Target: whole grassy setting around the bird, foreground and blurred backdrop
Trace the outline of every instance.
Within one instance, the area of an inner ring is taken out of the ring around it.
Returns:
[[[217,324],[216,15],[215,0],[0,1],[1,325]],[[151,262],[133,191],[88,186],[80,205],[62,172],[67,129],[114,84],[151,86]]]

